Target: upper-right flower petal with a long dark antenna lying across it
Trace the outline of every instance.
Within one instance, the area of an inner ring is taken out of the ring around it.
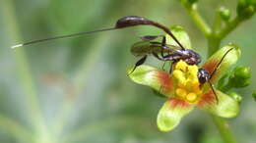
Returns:
[[[224,54],[230,49],[232,50],[229,51],[224,57]],[[215,53],[203,66],[205,70],[209,71],[212,74],[217,69],[217,66],[224,57],[220,67],[211,78],[212,83],[215,84],[224,75],[224,73],[236,63],[240,55],[240,49],[234,44],[229,44],[217,51],[217,53]]]

